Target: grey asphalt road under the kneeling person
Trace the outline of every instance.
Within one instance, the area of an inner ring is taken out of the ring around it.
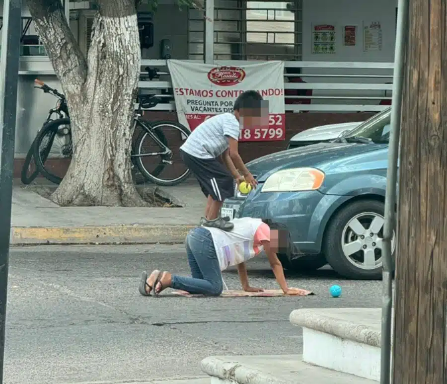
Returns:
[[[10,257],[5,383],[149,382],[203,376],[210,355],[301,352],[290,325],[302,307],[379,307],[380,282],[340,280],[330,269],[289,274],[305,298],[145,298],[143,269],[187,274],[181,246],[13,248]],[[252,286],[277,288],[268,262],[249,264]],[[230,289],[237,272],[225,273]],[[328,295],[340,284],[342,298]]]

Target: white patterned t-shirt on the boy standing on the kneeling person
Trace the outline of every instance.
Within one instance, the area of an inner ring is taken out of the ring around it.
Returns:
[[[239,122],[232,113],[205,120],[192,131],[180,149],[198,158],[217,158],[228,148],[227,136],[239,140]]]

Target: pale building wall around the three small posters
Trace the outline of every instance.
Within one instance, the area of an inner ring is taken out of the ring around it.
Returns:
[[[367,62],[392,63],[396,39],[397,0],[303,0],[302,9],[302,61],[307,62]],[[381,50],[364,50],[364,25],[378,21],[382,30]],[[335,53],[315,54],[312,52],[312,29],[315,24],[329,24],[335,27]],[[356,45],[344,45],[344,26],[355,25]],[[306,77],[306,74],[325,75],[392,75],[389,70],[368,69],[302,69],[302,79],[309,83],[386,83],[391,77]],[[313,96],[329,97],[312,99],[312,104],[379,104],[382,97],[391,96],[391,91],[381,90],[313,90]],[[349,96],[354,99],[331,97]],[[365,100],[362,96],[378,99]]]

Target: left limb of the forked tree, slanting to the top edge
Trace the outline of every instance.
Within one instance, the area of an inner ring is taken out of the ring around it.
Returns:
[[[64,92],[79,94],[87,77],[87,62],[65,18],[60,0],[27,0],[37,33]]]

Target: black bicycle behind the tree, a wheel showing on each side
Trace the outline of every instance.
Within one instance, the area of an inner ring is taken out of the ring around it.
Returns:
[[[186,179],[189,176],[190,171],[186,168],[180,176],[173,178],[160,177],[160,174],[166,169],[167,165],[172,165],[167,172],[169,174],[177,167],[177,164],[183,164],[180,156],[178,155],[178,158],[175,158],[173,151],[168,147],[165,131],[167,128],[173,128],[180,134],[180,141],[186,140],[190,132],[183,125],[170,121],[149,123],[140,120],[140,117],[143,116],[143,109],[153,108],[159,102],[160,99],[155,95],[140,97],[139,106],[134,116],[134,132],[137,132],[137,128],[139,128],[141,133],[132,146],[132,167],[134,168],[134,165],[136,164],[145,180],[151,181],[157,185],[172,186]],[[147,152],[145,150],[146,139],[149,139],[149,145],[155,144],[158,147],[158,151]],[[55,144],[56,151],[54,149]],[[63,177],[57,175],[55,171],[51,169],[49,164],[48,166],[45,164],[49,154],[54,152],[58,152],[59,157],[62,158],[69,158],[72,156],[73,144],[69,117],[53,120],[45,124],[42,129],[39,130],[33,143],[34,159],[40,173],[53,183],[59,184]],[[143,162],[143,159],[149,156],[152,158],[154,156],[160,157],[159,162],[156,163],[155,169],[152,171],[149,171],[148,164]]]

